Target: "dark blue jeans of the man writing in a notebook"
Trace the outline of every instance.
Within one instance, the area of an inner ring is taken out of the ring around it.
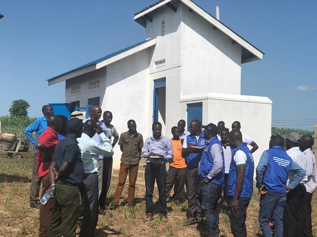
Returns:
[[[146,213],[153,214],[153,191],[154,184],[157,184],[157,189],[159,192],[159,208],[161,215],[167,214],[167,203],[166,203],[166,166],[164,164],[153,164],[147,163],[145,167],[145,204]]]

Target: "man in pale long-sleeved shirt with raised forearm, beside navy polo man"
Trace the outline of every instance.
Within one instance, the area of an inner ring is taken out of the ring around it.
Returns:
[[[112,155],[111,141],[106,137],[102,127],[94,120],[86,120],[82,135],[77,138],[81,151],[81,160],[84,164],[84,177],[81,184],[83,220],[79,237],[94,237],[98,222],[98,162],[99,155]],[[92,139],[98,134],[102,144]]]

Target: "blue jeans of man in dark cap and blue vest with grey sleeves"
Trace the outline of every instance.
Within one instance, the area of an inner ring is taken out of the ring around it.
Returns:
[[[202,183],[202,211],[206,217],[206,232],[208,236],[219,236],[218,201],[222,193],[222,185]]]

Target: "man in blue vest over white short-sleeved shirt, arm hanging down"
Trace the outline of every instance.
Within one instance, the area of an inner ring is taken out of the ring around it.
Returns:
[[[242,142],[241,131],[229,132],[231,148],[236,149],[228,176],[229,201],[231,203],[230,225],[234,237],[247,237],[246,214],[253,194],[254,160],[247,143]]]

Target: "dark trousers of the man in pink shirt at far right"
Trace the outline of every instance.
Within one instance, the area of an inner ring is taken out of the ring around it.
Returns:
[[[312,237],[312,198],[313,194],[306,192],[302,206],[302,232],[303,237]]]

